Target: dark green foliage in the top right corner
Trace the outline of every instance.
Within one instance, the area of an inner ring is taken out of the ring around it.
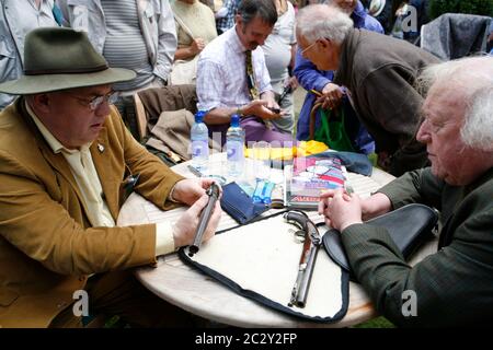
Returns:
[[[444,13],[469,13],[493,16],[493,0],[429,0],[429,19]]]

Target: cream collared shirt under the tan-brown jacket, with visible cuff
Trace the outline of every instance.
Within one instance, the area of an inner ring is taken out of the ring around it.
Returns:
[[[53,133],[36,117],[30,105],[25,104],[27,113],[45,138],[54,153],[60,153],[67,160],[76,183],[79,187],[82,200],[88,210],[87,214],[92,226],[115,226],[106,201],[103,199],[103,187],[91,156],[91,143],[82,145],[79,150],[69,150],[58,141]],[[156,224],[156,256],[171,253],[175,249],[173,228],[170,222]]]

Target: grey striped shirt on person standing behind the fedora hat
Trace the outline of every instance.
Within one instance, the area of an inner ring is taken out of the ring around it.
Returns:
[[[153,79],[152,65],[140,31],[135,0],[101,0],[105,23],[106,40],[103,56],[110,67],[133,69],[137,77],[128,82],[116,83],[116,91],[144,88]]]

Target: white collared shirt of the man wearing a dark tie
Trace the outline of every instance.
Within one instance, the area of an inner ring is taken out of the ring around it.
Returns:
[[[219,35],[200,52],[197,63],[197,108],[238,107],[250,103],[246,84],[245,50],[236,26]],[[252,51],[259,92],[272,90],[264,51]]]

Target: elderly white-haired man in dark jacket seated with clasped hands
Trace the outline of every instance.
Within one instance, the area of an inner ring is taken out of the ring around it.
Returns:
[[[493,57],[429,67],[417,140],[432,166],[377,194],[330,191],[325,222],[342,232],[355,276],[377,310],[400,326],[493,325]],[[440,211],[438,252],[410,267],[383,228],[362,223],[411,202]],[[415,313],[402,312],[405,291]]]

